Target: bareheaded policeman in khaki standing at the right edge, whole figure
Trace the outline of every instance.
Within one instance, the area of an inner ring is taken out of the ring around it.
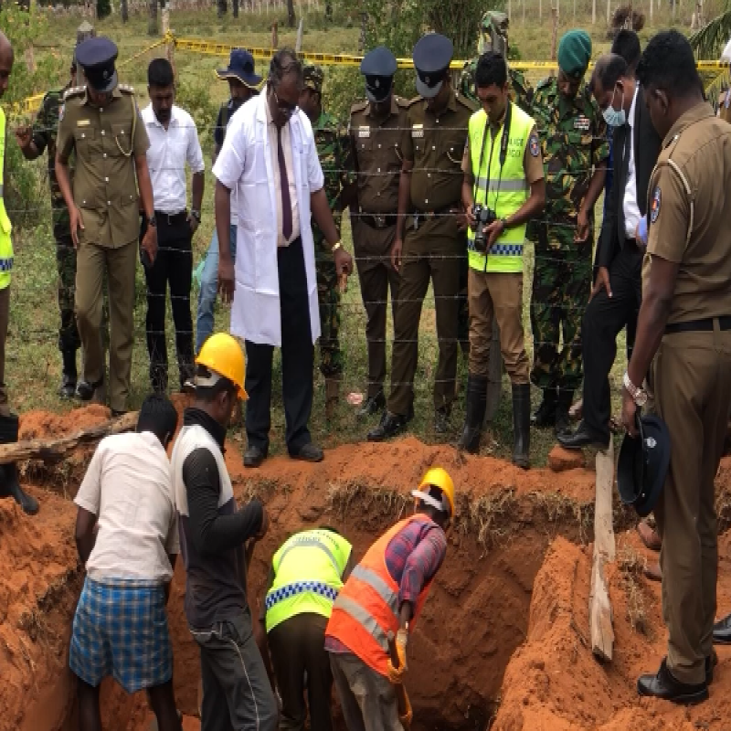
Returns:
[[[662,538],[668,654],[641,695],[675,703],[708,697],[717,573],[714,478],[731,415],[731,127],[704,101],[693,50],[677,31],[652,37],[637,69],[663,138],[649,186],[648,245],[622,422],[647,401],[670,431],[670,469],[655,507]],[[657,357],[655,357],[657,355]],[[654,358],[654,364],[652,363]]]

